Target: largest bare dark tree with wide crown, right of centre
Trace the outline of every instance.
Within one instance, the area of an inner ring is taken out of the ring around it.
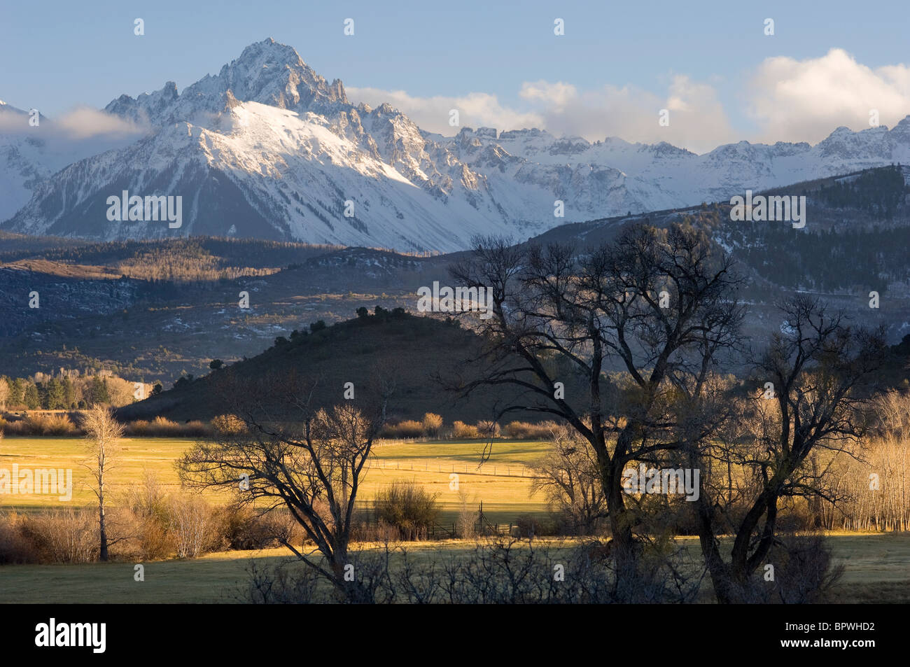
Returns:
[[[510,386],[517,396],[494,406],[496,419],[557,415],[588,440],[616,552],[634,560],[636,520],[622,473],[633,460],[685,445],[680,415],[698,413],[687,406],[737,342],[742,308],[732,260],[694,227],[640,225],[586,254],[480,238],[473,257],[450,272],[463,285],[490,288],[493,313],[479,320],[490,344],[472,374],[448,384],[462,395]],[[610,370],[622,377],[611,379]],[[717,419],[701,414],[705,421],[688,437],[711,435]]]

